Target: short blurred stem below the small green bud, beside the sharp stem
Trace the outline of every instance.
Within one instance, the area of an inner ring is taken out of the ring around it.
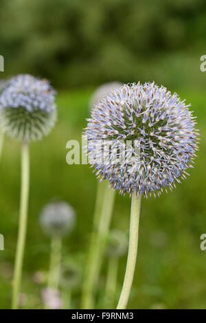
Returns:
[[[108,259],[108,271],[106,276],[105,309],[113,309],[115,291],[117,287],[118,258]]]

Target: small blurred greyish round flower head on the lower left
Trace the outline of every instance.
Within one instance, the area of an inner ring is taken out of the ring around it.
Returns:
[[[45,205],[40,214],[43,230],[50,236],[65,236],[75,225],[76,213],[66,202],[60,201]]]

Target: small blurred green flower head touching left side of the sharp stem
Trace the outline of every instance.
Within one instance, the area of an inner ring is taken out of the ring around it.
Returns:
[[[112,230],[108,236],[106,254],[109,257],[124,256],[128,249],[128,238],[124,232]]]

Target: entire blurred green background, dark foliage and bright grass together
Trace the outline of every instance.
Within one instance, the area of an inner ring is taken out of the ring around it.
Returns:
[[[144,199],[131,309],[205,309],[206,251],[206,3],[203,0],[1,0],[0,54],[5,78],[30,73],[58,89],[58,122],[42,142],[31,145],[30,211],[23,267],[23,308],[41,308],[36,271],[46,272],[49,238],[38,214],[51,199],[76,209],[76,230],[64,239],[63,258],[84,269],[93,223],[97,181],[88,165],[66,163],[66,143],[80,140],[89,100],[102,82],[155,80],[192,104],[201,130],[195,168],[174,192]],[[10,308],[12,269],[19,218],[20,145],[6,138],[0,164],[0,308]],[[128,232],[130,199],[117,194],[112,227]],[[117,298],[126,257],[121,259]],[[102,306],[107,262],[101,272],[97,307]],[[80,306],[80,289],[73,308]]]

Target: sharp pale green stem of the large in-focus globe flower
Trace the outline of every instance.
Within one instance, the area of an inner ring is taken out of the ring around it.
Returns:
[[[130,212],[130,238],[128,247],[128,258],[126,264],[126,272],[124,276],[124,284],[119,298],[117,309],[126,309],[130,290],[133,285],[133,277],[135,274],[135,265],[137,260],[137,247],[139,236],[139,212],[141,205],[141,195],[132,195],[131,212]]]

